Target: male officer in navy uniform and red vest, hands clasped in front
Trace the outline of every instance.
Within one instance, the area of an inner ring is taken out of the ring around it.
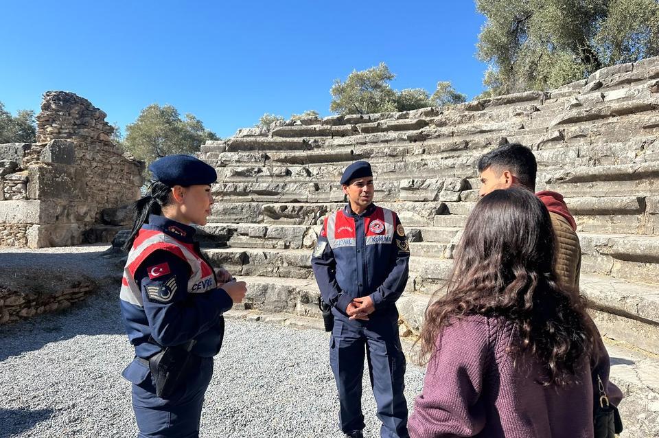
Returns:
[[[408,437],[405,356],[395,304],[407,283],[408,240],[398,216],[373,204],[369,163],[349,165],[340,183],[349,203],[325,218],[311,259],[323,301],[334,314],[329,362],[338,388],[340,428],[347,437],[363,436],[366,353],[380,436]]]

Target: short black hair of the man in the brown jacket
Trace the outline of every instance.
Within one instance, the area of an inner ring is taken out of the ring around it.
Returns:
[[[527,146],[509,143],[487,152],[478,159],[478,172],[493,168],[496,172],[508,170],[516,176],[524,187],[535,191],[535,174],[537,162],[535,155]]]

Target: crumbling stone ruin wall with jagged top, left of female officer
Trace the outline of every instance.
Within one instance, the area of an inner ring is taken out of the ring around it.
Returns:
[[[0,245],[107,242],[116,207],[139,198],[143,163],[125,157],[106,114],[86,99],[48,91],[36,143],[0,144]]]

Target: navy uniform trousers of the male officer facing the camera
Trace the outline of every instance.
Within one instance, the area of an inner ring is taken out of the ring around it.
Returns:
[[[329,362],[334,372],[340,402],[339,422],[344,433],[365,427],[362,413],[362,376],[364,357],[382,438],[408,437],[405,388],[405,356],[398,336],[395,308],[374,312],[369,321],[349,320],[335,309],[334,329],[329,343]]]

